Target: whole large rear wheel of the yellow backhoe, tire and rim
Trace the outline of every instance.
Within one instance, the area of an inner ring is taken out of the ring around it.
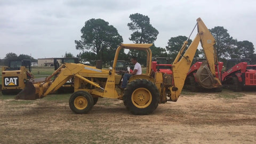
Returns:
[[[148,79],[135,79],[127,85],[123,101],[132,114],[148,115],[158,107],[159,92]]]

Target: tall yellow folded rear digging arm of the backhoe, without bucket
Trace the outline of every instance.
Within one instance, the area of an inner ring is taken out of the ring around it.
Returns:
[[[199,42],[201,42],[201,45],[203,47],[205,57],[207,60],[207,65],[209,66],[209,75],[210,78],[213,77],[214,84],[211,83],[211,85],[214,87],[215,85],[221,85],[220,80],[218,78],[215,78],[215,64],[218,62],[217,60],[217,53],[214,48],[215,39],[210,33],[210,31],[207,29],[207,27],[204,25],[204,22],[201,20],[201,18],[197,19],[197,35],[194,39],[194,41],[189,45],[186,52],[181,55],[181,53],[185,50],[187,41],[184,42],[183,46],[180,49],[179,54],[175,58],[173,65],[172,65],[172,71],[173,71],[173,86],[169,87],[169,90],[171,91],[171,101],[177,101],[179,98],[179,95],[181,93],[181,90],[183,88],[183,85],[185,83],[185,79],[187,77],[188,70],[191,66],[191,62],[195,56],[197,47]]]

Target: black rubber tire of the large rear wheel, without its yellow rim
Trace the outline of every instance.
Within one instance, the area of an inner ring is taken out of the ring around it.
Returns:
[[[152,95],[152,101],[146,108],[138,108],[132,103],[132,93],[139,88],[147,89]],[[154,83],[148,81],[148,79],[135,79],[127,85],[124,91],[123,97],[124,105],[134,115],[148,115],[158,107],[159,92]]]

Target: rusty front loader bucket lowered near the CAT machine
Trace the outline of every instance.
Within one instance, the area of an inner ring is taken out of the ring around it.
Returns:
[[[27,81],[25,88],[16,95],[16,100],[36,100],[39,99],[38,94],[36,94],[35,86],[32,82]]]

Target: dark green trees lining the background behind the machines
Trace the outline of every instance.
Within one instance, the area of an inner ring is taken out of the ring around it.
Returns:
[[[150,24],[147,15],[135,13],[130,15],[131,22],[127,23],[127,27],[133,33],[129,37],[130,41],[136,44],[153,43],[150,47],[153,57],[168,57],[175,59],[183,42],[188,39],[186,36],[171,37],[167,42],[167,46],[157,47],[154,42],[159,34],[158,30]],[[219,61],[226,62],[231,58],[250,58],[256,61],[254,54],[254,45],[249,41],[237,41],[228,34],[228,30],[224,27],[217,26],[209,29],[215,38],[217,55]],[[102,60],[103,63],[109,63],[114,60],[116,48],[123,43],[123,38],[118,34],[117,29],[109,25],[109,22],[103,19],[90,19],[85,21],[81,29],[81,39],[75,40],[75,49],[79,50],[77,57],[81,62],[90,62],[94,64],[96,60]],[[188,39],[188,45],[192,42]],[[6,58],[18,57],[13,53],[6,54]],[[29,56],[24,55],[23,56]],[[22,55],[19,57],[22,58]],[[65,57],[73,57],[71,53],[66,53]],[[122,50],[119,53],[119,59],[130,60],[131,57],[137,57],[142,65],[146,64],[146,52],[130,50],[127,54]],[[195,58],[203,58],[203,51],[197,50]]]

